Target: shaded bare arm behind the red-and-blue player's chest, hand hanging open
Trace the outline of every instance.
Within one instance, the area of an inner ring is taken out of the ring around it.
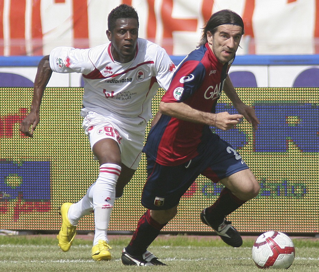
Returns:
[[[238,113],[242,114],[246,118],[246,120],[253,126],[254,129],[257,129],[260,122],[256,117],[255,110],[252,107],[244,104],[240,100],[228,75],[225,79],[224,92],[227,97],[233,102],[234,107],[236,108]]]

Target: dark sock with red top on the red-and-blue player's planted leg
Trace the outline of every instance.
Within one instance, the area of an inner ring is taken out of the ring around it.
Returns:
[[[156,222],[151,217],[150,210],[147,210],[138,221],[137,228],[133,233],[129,245],[125,248],[125,251],[131,256],[142,255],[165,225],[166,224],[159,224]]]

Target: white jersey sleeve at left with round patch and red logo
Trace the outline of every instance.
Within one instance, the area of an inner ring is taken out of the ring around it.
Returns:
[[[50,68],[58,73],[88,74],[94,70],[89,58],[90,49],[75,49],[72,47],[56,47],[50,52]]]

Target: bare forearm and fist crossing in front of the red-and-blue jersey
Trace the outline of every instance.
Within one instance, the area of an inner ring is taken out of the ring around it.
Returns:
[[[226,111],[215,114],[196,110],[183,102],[165,103],[161,101],[159,112],[184,121],[215,126],[221,130],[234,128],[243,118],[241,114],[229,114]]]

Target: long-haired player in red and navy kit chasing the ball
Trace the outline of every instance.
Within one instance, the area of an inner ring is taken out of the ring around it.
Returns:
[[[122,251],[125,265],[165,265],[147,247],[177,214],[180,198],[200,175],[225,188],[200,217],[233,247],[242,245],[238,231],[226,216],[254,198],[259,184],[241,156],[211,132],[234,128],[245,117],[257,129],[254,109],[239,99],[228,70],[244,34],[241,17],[230,10],[214,13],[202,40],[178,66],[153,120],[143,151],[147,155],[147,182],[142,204],[148,210]],[[222,90],[239,114],[215,113]]]

